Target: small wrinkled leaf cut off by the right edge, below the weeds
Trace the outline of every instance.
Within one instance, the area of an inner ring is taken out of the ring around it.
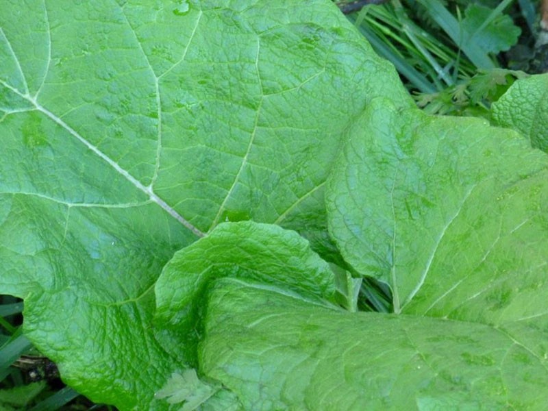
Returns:
[[[519,79],[492,110],[499,125],[516,129],[533,147],[548,151],[548,74]]]

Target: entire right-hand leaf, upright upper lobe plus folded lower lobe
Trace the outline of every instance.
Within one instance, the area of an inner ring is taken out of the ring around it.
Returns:
[[[329,182],[329,224],[399,315],[218,281],[201,372],[253,410],[543,410],[547,182],[546,155],[510,130],[373,101]]]

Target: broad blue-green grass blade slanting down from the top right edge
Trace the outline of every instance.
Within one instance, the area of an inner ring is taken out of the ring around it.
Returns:
[[[467,41],[457,19],[438,0],[417,0],[423,5],[429,16],[438,23],[447,36],[462,50],[478,69],[494,69],[495,64],[489,55],[474,42]]]

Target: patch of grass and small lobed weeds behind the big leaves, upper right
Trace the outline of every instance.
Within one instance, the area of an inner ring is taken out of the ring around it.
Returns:
[[[349,18],[375,51],[395,64],[419,107],[431,114],[488,116],[490,103],[525,75],[501,68],[497,58],[521,33],[506,14],[512,1],[449,3],[362,3]],[[345,10],[345,3],[339,4]],[[521,1],[518,9],[535,31],[532,3]]]

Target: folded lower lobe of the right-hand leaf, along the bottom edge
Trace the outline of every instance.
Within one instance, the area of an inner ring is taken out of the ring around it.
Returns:
[[[543,410],[546,360],[531,348],[490,325],[338,312],[223,279],[201,371],[247,410]]]

